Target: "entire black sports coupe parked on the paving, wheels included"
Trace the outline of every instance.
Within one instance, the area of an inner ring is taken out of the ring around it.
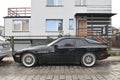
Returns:
[[[91,67],[96,60],[110,56],[107,46],[87,38],[62,37],[48,45],[35,46],[16,51],[13,55],[15,62],[26,67],[36,64],[67,64],[82,63]]]

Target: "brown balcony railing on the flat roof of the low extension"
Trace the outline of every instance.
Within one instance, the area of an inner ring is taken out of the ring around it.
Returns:
[[[31,16],[31,8],[8,8],[8,16]]]

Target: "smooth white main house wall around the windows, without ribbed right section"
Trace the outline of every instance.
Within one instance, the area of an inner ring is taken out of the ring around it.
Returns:
[[[32,0],[32,34],[58,35],[59,32],[46,32],[46,19],[63,19],[64,34],[75,35],[75,13],[86,13],[87,8],[85,6],[75,7],[74,3],[74,0],[63,0],[63,7],[46,7],[46,0]],[[73,30],[69,30],[69,19],[71,18],[74,19]]]

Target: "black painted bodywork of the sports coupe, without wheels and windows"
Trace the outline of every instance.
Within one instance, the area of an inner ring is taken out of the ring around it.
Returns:
[[[74,42],[73,47],[68,48],[55,48],[55,44],[58,43],[61,40],[64,39],[82,39],[82,41],[85,43],[85,45],[76,47],[76,43]],[[91,47],[88,47],[90,45]],[[102,44],[92,44],[88,43],[84,38],[61,38],[57,42],[55,42],[51,46],[37,46],[37,47],[31,47],[27,49],[23,49],[20,51],[17,51],[13,57],[16,62],[21,63],[21,57],[25,53],[32,53],[36,56],[38,63],[80,63],[81,57],[83,54],[87,52],[91,52],[96,55],[97,60],[102,60],[110,55],[106,53],[106,47],[100,47]],[[94,47],[96,46],[96,47]],[[100,57],[100,53],[104,53],[105,56]],[[19,58],[16,57],[16,55],[20,55]]]

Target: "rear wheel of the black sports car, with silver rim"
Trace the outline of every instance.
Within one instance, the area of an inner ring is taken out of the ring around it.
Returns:
[[[92,67],[96,63],[96,56],[93,53],[86,53],[82,56],[81,63],[85,67]]]

